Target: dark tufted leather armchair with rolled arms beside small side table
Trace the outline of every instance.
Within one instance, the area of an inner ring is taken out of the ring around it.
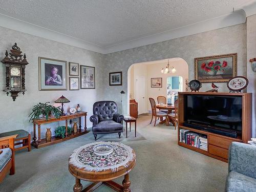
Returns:
[[[121,124],[123,115],[117,113],[117,104],[114,101],[97,101],[93,104],[92,131],[97,140],[97,134],[118,133],[119,138],[123,132]]]

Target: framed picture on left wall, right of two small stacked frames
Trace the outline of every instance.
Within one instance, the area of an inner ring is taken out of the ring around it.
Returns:
[[[95,67],[80,65],[80,88],[95,89]]]

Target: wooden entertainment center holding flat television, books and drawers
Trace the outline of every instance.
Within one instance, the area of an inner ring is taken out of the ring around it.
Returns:
[[[178,144],[228,161],[231,142],[251,138],[252,94],[179,92]]]

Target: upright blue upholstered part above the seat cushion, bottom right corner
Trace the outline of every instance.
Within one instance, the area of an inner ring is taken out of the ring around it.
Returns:
[[[228,172],[232,170],[256,179],[256,147],[232,142],[229,146]]]

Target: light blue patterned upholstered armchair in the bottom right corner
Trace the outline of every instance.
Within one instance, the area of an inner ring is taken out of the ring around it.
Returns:
[[[232,142],[229,147],[226,192],[256,191],[256,146]]]

